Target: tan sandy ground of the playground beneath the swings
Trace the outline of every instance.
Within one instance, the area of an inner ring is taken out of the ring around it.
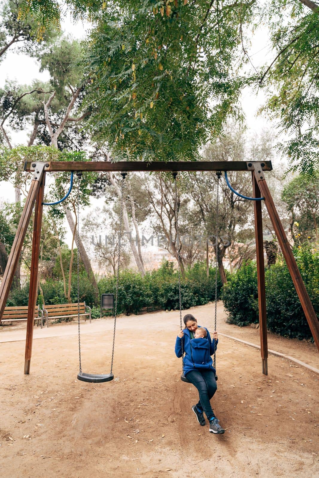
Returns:
[[[212,329],[212,305],[188,312]],[[224,318],[219,304],[219,332],[259,342]],[[196,389],[179,380],[178,324],[176,312],[119,317],[116,379],[103,384],[76,378],[75,324],[35,327],[29,376],[25,323],[1,328],[0,476],[319,477],[319,375],[270,356],[264,376],[259,350],[221,337],[211,402],[226,431],[211,435],[191,412]],[[112,321],[81,327],[83,371],[109,372]],[[270,335],[268,345],[318,367],[313,344]]]

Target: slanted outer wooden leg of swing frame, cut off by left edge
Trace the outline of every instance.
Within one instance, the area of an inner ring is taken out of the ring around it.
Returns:
[[[39,174],[37,175],[37,179],[33,179],[31,183],[30,191],[25,201],[20,222],[17,228],[17,232],[12,244],[10,256],[7,262],[7,267],[3,274],[3,278],[2,278],[2,282],[0,286],[0,324],[1,324],[1,317],[4,311],[4,307],[6,306],[11,284],[13,281],[14,272],[16,270],[16,267],[20,258],[22,245],[23,245],[24,237],[29,225],[34,202],[40,188],[39,179],[40,180],[42,179],[43,174],[44,173],[42,169],[42,171],[40,171]]]

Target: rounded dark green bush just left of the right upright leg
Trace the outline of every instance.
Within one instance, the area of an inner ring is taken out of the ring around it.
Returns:
[[[258,322],[257,268],[253,261],[246,262],[232,274],[222,292],[227,322],[247,326]]]

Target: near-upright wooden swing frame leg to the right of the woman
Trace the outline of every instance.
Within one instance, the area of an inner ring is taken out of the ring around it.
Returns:
[[[253,176],[253,197],[261,197],[258,182]],[[266,290],[265,290],[265,270],[264,270],[264,242],[263,242],[263,219],[261,201],[253,201],[253,211],[255,217],[255,241],[256,241],[256,261],[257,261],[257,282],[258,282],[258,307],[259,307],[259,333],[260,333],[260,353],[262,356],[262,370],[264,375],[268,375],[268,344],[267,344],[267,313],[266,313]]]

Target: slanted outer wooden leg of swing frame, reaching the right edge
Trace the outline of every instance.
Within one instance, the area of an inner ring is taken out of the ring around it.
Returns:
[[[315,343],[317,345],[317,348],[319,350],[319,322],[317,315],[314,311],[314,308],[311,304],[310,297],[308,295],[307,289],[305,287],[305,284],[302,280],[300,271],[297,266],[297,262],[294,258],[294,254],[291,250],[290,244],[288,242],[288,239],[286,237],[285,230],[280,222],[277,210],[275,208],[275,204],[273,201],[273,198],[271,197],[271,194],[269,192],[268,186],[266,181],[264,180],[264,174],[263,172],[261,174],[258,174],[259,171],[254,171],[254,177],[256,181],[258,182],[258,186],[260,189],[261,194],[264,196],[264,201],[265,205],[268,210],[268,214],[270,217],[270,220],[273,224],[273,227],[275,229],[275,234],[277,236],[278,242],[280,244],[281,250],[283,252],[288,270],[290,272],[292,281],[294,282],[294,286],[296,288],[300,303],[302,305],[303,311],[306,315],[312,336],[315,340]],[[262,176],[262,177],[260,177]]]

